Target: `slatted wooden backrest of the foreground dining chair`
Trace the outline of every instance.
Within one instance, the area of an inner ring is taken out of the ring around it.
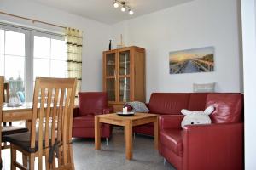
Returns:
[[[65,167],[69,163],[67,145],[72,142],[76,82],[74,78],[36,78],[33,95],[31,148],[38,148],[39,169],[43,167],[43,147],[45,147],[46,166],[49,166],[49,157],[52,156],[50,164],[55,168],[55,153],[57,152],[60,156],[58,167]],[[50,154],[50,149],[56,150]]]

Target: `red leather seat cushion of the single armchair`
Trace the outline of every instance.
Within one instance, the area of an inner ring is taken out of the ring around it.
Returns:
[[[73,127],[94,127],[94,116],[73,117]]]

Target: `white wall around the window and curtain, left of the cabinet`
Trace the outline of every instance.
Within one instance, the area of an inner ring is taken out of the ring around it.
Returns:
[[[108,49],[110,26],[27,0],[1,0],[0,10],[9,14],[16,14],[34,20],[43,20],[84,31],[82,90],[102,90],[102,51]],[[63,31],[57,27],[39,25],[37,23],[32,24],[32,22],[7,17],[3,14],[0,14],[0,20],[8,20],[34,27],[44,27],[51,31]]]

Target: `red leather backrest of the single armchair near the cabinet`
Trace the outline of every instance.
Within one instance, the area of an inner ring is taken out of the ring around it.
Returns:
[[[106,92],[80,92],[79,115],[102,114],[102,110],[108,106]]]

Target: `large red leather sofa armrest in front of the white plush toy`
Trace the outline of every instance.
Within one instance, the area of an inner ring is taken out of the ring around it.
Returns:
[[[243,169],[243,123],[185,126],[183,154],[184,169]]]

